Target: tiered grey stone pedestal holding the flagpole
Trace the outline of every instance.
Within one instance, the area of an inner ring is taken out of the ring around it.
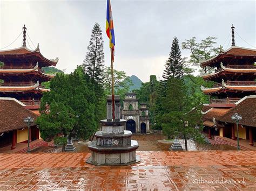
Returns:
[[[125,119],[120,119],[120,97],[114,97],[116,119],[112,119],[112,96],[107,97],[107,119],[100,121],[102,131],[95,133],[96,141],[88,145],[91,151],[86,161],[97,166],[130,165],[140,161],[136,155],[139,147],[136,140],[131,140],[132,132],[124,130]]]

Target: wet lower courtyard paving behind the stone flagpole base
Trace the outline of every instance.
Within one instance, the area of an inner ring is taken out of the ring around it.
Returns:
[[[159,143],[158,140],[163,140],[166,137],[164,135],[134,135],[132,136],[133,140],[137,140],[139,148],[137,151],[169,151],[171,146],[166,143]],[[185,142],[183,139],[180,139],[180,144],[185,150]],[[188,151],[208,151],[208,150],[237,150],[236,147],[230,145],[211,145],[211,144],[198,144],[193,140],[187,140]],[[87,145],[78,144],[74,142],[77,150],[76,152],[90,152],[87,148]],[[31,152],[45,152],[45,153],[58,153],[62,152],[62,147],[38,147]]]

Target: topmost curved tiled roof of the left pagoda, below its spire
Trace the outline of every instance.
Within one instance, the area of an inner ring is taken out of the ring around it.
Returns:
[[[17,55],[23,55],[23,56],[36,56],[41,60],[41,62],[46,63],[47,66],[56,66],[58,62],[58,58],[56,59],[46,59],[40,52],[39,46],[35,50],[30,50],[27,47],[19,47],[15,49],[9,49],[0,51],[0,61],[1,58],[5,58],[6,56],[17,56]]]

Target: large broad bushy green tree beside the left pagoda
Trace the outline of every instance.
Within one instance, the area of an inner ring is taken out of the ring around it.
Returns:
[[[42,114],[36,121],[42,138],[50,141],[61,134],[69,139],[88,139],[97,129],[96,96],[89,76],[78,67],[69,75],[57,74],[50,88],[42,97]],[[49,105],[50,112],[45,112],[45,105]]]

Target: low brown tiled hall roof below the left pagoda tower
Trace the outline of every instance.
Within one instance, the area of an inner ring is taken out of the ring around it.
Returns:
[[[15,98],[0,97],[0,133],[25,128],[26,124],[23,122],[25,117],[37,118],[36,114],[25,109],[24,106]]]

